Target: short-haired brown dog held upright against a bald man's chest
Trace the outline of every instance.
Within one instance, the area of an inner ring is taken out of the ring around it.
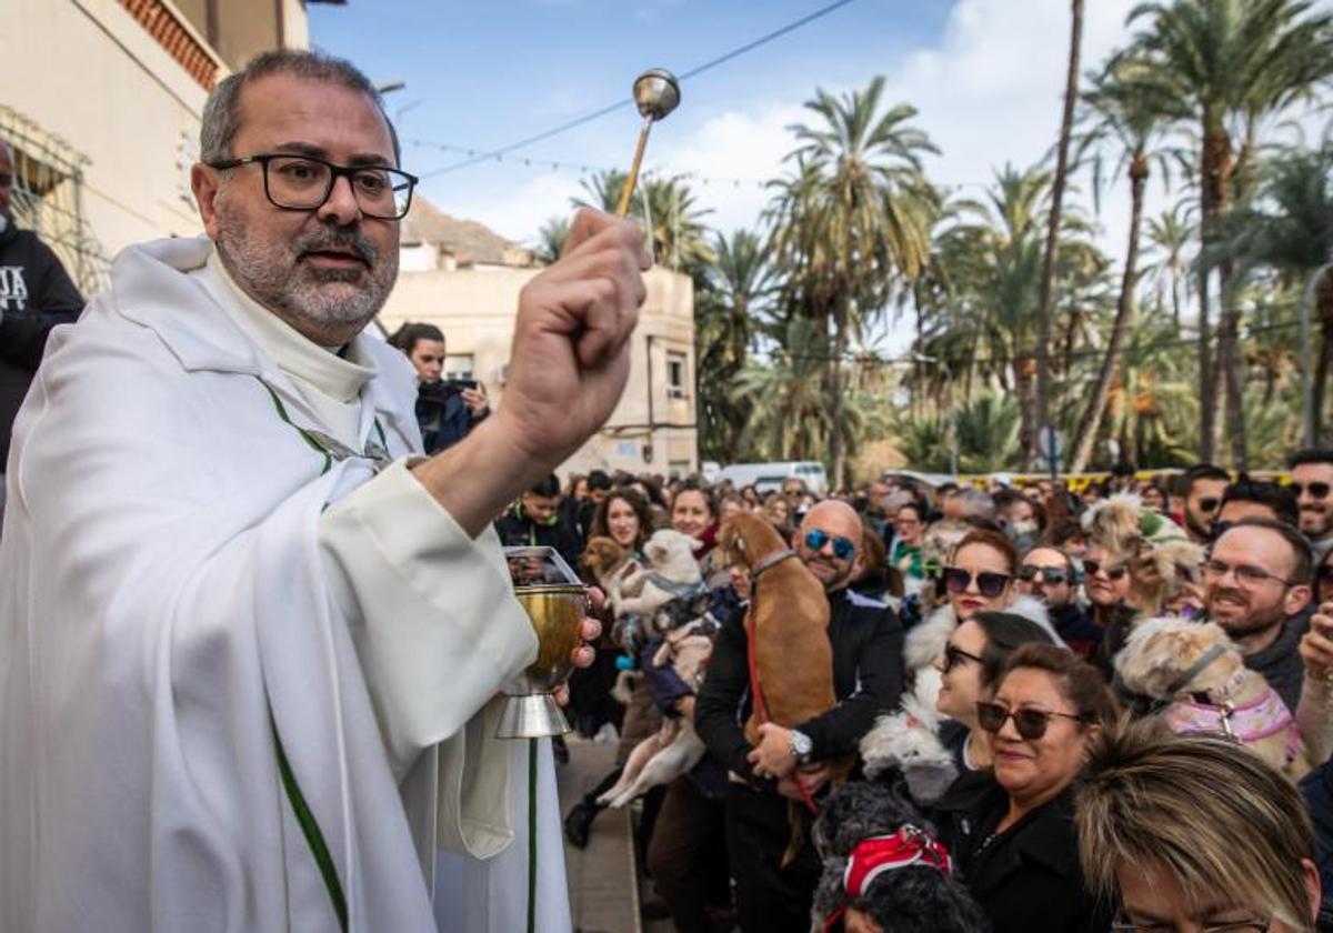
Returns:
[[[717,545],[726,564],[750,570],[753,590],[745,618],[753,642],[757,684],[768,721],[788,729],[837,704],[833,693],[833,648],[829,645],[829,601],[824,585],[794,556],[766,561],[788,550],[764,518],[740,512],[722,525]],[[758,745],[761,704],[745,724],[745,740]]]

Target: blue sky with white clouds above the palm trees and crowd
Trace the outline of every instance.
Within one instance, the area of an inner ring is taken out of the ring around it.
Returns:
[[[1084,71],[1125,44],[1125,16],[1137,1],[1086,1]],[[351,0],[312,4],[309,25],[313,45],[352,59],[377,83],[408,83],[387,99],[404,140],[492,149],[628,100],[645,68],[688,71],[826,3]],[[1329,9],[1333,0],[1316,5]],[[1069,0],[854,0],[686,81],[680,109],[653,132],[645,169],[693,173],[712,225],[753,227],[768,200],[758,184],[702,179],[777,176],[793,148],[788,127],[817,87],[845,92],[884,75],[884,103],[917,107],[917,125],[942,149],[928,164],[932,179],[977,196],[997,167],[1032,165],[1054,144],[1068,41]],[[512,160],[433,176],[423,191],[448,213],[531,243],[581,191],[577,169],[536,160],[625,168],[637,128],[637,113],[625,107]],[[417,175],[460,157],[404,147],[405,167]],[[1090,209],[1088,179],[1074,184],[1082,188],[1074,200]],[[1124,192],[1105,191],[1097,217],[1116,257],[1128,227]],[[1149,183],[1149,215],[1177,199],[1160,179]],[[876,343],[901,347],[905,336],[888,332]]]

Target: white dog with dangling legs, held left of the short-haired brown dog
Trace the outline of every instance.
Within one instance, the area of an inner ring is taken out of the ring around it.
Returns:
[[[652,629],[663,636],[652,664],[657,668],[670,664],[676,674],[692,686],[698,685],[713,650],[713,624],[701,616],[698,605],[700,597],[706,593],[694,560],[697,546],[698,542],[688,534],[669,529],[656,532],[644,545],[648,566],[636,566],[623,578],[616,577],[619,586],[609,597],[617,620],[648,620]],[[704,742],[694,733],[693,722],[682,716],[669,716],[656,733],[635,746],[616,786],[597,802],[624,806],[651,788],[686,773],[702,757]]]

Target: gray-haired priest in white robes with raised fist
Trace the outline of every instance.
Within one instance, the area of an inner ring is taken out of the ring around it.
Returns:
[[[261,55],[200,143],[207,236],[125,249],[16,420],[0,929],[521,929],[528,748],[492,736],[536,642],[489,522],[620,397],[641,235],[576,217],[503,404],[425,459],[364,332],[416,181],[373,85]],[[564,930],[549,749],[540,777]]]

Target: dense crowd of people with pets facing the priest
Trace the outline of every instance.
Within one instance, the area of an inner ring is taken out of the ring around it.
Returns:
[[[604,589],[647,562],[657,529],[697,542],[708,594],[686,614],[717,622],[705,673],[686,684],[655,665],[661,633],[635,641],[612,602],[597,662],[572,685],[577,732],[619,740],[621,765],[664,717],[706,746],[636,822],[657,894],[644,909],[680,930],[1316,929],[1333,922],[1330,486],[1333,451],[1296,455],[1288,485],[1122,468],[1081,494],[888,476],[820,497],[794,478],[760,490],[595,470],[564,489],[549,477],[497,529],[557,548]],[[837,694],[757,744],[742,732],[752,581],[717,546],[737,513],[770,522],[822,584]],[[1213,624],[1202,658],[1146,644]],[[1258,726],[1238,673],[1230,693],[1204,689],[1228,657],[1270,688]],[[1224,712],[1181,720],[1181,704]],[[1285,737],[1276,757],[1260,726]],[[572,845],[597,832],[619,777],[567,812]],[[865,840],[836,852],[824,837],[846,830],[821,820],[872,790],[948,864],[884,856],[898,826],[869,817]],[[956,926],[905,920],[884,870],[901,864],[949,877]]]

